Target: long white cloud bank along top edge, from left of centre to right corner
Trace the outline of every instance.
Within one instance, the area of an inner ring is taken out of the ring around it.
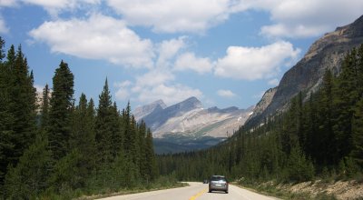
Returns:
[[[361,0],[108,0],[131,25],[153,31],[203,33],[230,15],[249,10],[270,13],[272,25],[260,33],[270,37],[309,37],[347,25],[362,15]]]

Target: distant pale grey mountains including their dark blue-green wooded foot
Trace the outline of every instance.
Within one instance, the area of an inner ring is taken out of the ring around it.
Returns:
[[[186,151],[216,145],[231,136],[249,118],[251,110],[252,107],[239,109],[234,106],[205,109],[201,101],[192,96],[170,106],[158,100],[137,107],[133,115],[138,122],[143,120],[151,128],[154,143],[159,144],[155,145],[157,152],[160,144],[183,146],[182,151]]]

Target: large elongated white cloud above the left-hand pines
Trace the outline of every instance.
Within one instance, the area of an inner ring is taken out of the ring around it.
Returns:
[[[54,53],[105,59],[133,67],[153,65],[152,42],[140,38],[122,20],[105,15],[91,15],[86,20],[44,22],[29,35],[49,45]]]

